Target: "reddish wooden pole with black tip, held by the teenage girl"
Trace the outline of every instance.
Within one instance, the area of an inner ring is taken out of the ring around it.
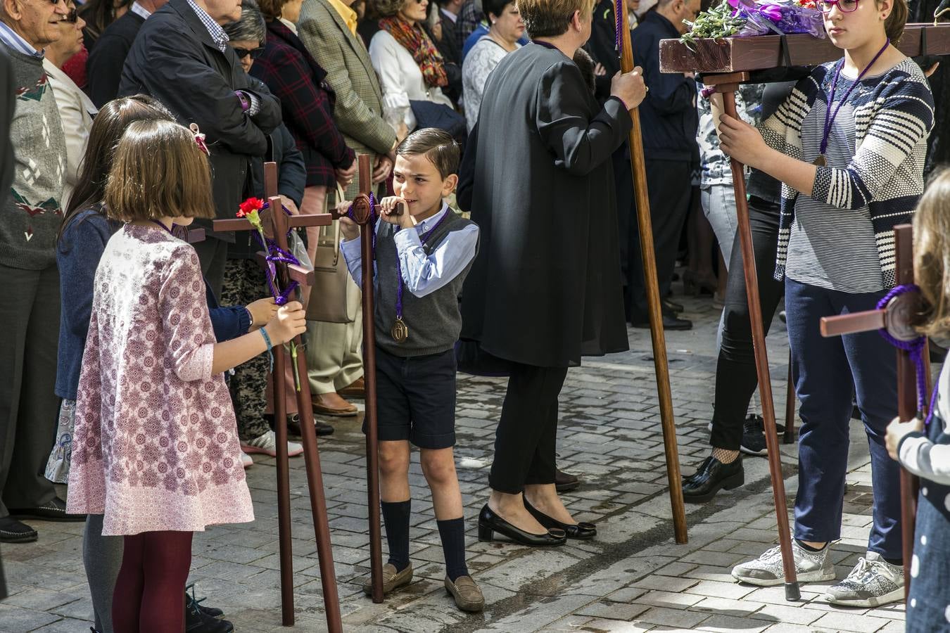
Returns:
[[[737,81],[745,73],[727,76],[707,76],[705,81],[716,86],[722,94],[723,109],[730,117],[738,119],[735,111]],[[724,81],[725,80],[725,81]],[[802,597],[795,575],[795,558],[791,552],[791,531],[788,528],[788,502],[785,495],[785,479],[782,475],[782,454],[779,452],[778,431],[775,429],[775,403],[772,400],[771,377],[769,376],[769,353],[766,349],[766,332],[762,325],[762,306],[759,303],[759,280],[755,267],[755,252],[752,250],[752,229],[749,222],[749,206],[746,199],[746,175],[741,162],[730,159],[732,186],[735,190],[735,212],[738,219],[739,244],[742,248],[742,269],[746,278],[746,300],[749,302],[749,321],[752,332],[752,349],[755,352],[755,373],[759,382],[759,400],[762,404],[762,419],[765,422],[766,447],[769,451],[769,475],[771,476],[772,501],[775,505],[775,521],[778,525],[778,544],[782,550],[782,569],[785,574],[785,599],[799,600]],[[791,384],[788,388],[793,388]],[[792,404],[794,406],[794,404]]]

